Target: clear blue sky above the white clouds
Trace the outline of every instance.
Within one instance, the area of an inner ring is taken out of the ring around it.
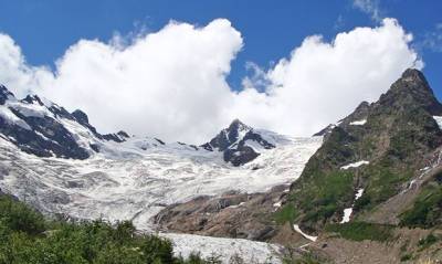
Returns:
[[[349,0],[0,0],[0,32],[11,35],[27,60],[36,65],[53,64],[80,39],[108,41],[115,32],[157,31],[169,20],[203,25],[215,18],[227,18],[244,38],[244,47],[228,78],[232,88],[240,87],[248,61],[267,67],[287,56],[307,35],[332,39],[337,32],[377,23]],[[427,77],[441,98],[442,46],[434,51],[421,43],[425,35],[442,34],[436,29],[442,23],[442,2],[386,0],[379,2],[379,9],[383,17],[398,19],[413,33]]]

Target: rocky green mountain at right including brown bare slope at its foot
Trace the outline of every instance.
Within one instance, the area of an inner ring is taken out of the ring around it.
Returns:
[[[290,189],[194,198],[166,207],[156,223],[283,244],[299,263],[441,260],[441,125],[425,77],[407,70],[377,102],[324,129]]]

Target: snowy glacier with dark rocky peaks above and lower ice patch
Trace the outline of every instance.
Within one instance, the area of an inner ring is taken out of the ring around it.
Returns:
[[[81,110],[69,113],[38,96],[19,101],[0,87],[2,192],[49,215],[131,220],[146,232],[156,231],[151,218],[169,204],[292,183],[322,140],[254,129],[239,120],[202,146],[124,131],[102,135]],[[242,240],[161,235],[178,243],[177,254],[223,249],[224,261],[239,253],[261,262],[277,250]],[[217,247],[200,246],[209,242]]]

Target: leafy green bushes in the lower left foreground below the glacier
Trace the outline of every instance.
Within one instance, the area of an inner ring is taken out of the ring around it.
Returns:
[[[49,222],[25,204],[0,196],[0,264],[202,264],[172,256],[168,240],[136,235],[130,222]]]

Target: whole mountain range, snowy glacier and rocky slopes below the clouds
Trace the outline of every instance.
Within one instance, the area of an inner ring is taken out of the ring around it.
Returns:
[[[210,241],[231,256],[248,239],[318,263],[439,260],[441,126],[417,70],[314,137],[235,119],[201,146],[102,135],[82,110],[1,86],[0,192],[51,217],[130,220],[187,252]]]

